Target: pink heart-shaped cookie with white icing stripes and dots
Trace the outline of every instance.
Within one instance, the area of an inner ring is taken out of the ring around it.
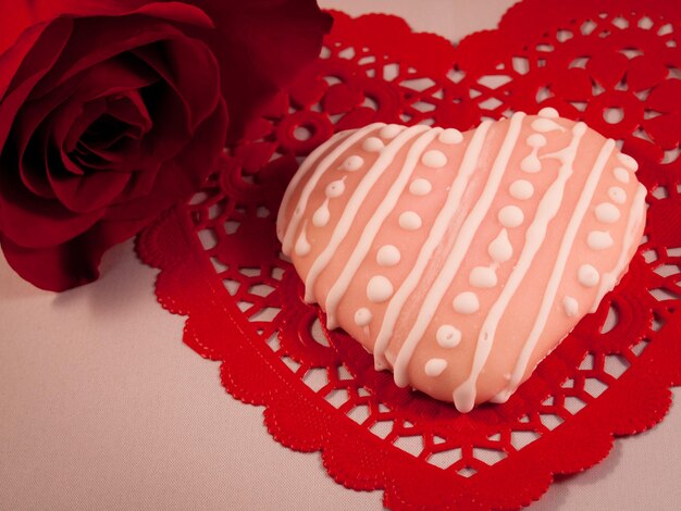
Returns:
[[[278,237],[330,328],[468,412],[507,400],[627,270],[636,166],[554,109],[463,134],[376,123],[306,160]]]

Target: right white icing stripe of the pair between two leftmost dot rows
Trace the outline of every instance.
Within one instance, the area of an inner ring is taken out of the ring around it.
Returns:
[[[401,167],[401,171],[397,175],[395,183],[391,186],[389,190],[385,195],[385,198],[376,208],[373,216],[367,222],[367,226],[362,230],[362,234],[359,237],[357,246],[347,260],[347,263],[343,267],[340,275],[336,282],[331,286],[329,290],[329,295],[326,296],[326,303],[324,309],[326,310],[326,324],[329,328],[336,328],[338,323],[336,321],[336,309],[338,303],[347,292],[348,287],[350,286],[350,282],[352,277],[357,273],[357,270],[361,265],[362,261],[369,253],[373,241],[379,234],[379,230],[383,226],[383,222],[385,219],[393,212],[401,194],[404,192],[413,171],[419,163],[419,159],[421,154],[425,150],[425,148],[433,141],[433,139],[442,132],[442,129],[430,129],[424,135],[421,135],[417,141],[413,142],[409,151],[407,152],[407,158],[405,159],[405,163]],[[385,247],[382,248],[382,250]],[[397,250],[393,247],[394,250]],[[379,252],[381,254],[381,251]],[[397,261],[399,261],[399,251],[397,251]],[[379,262],[379,264],[381,264]]]

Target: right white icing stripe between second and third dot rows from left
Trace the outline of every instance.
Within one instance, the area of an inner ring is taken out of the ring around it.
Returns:
[[[397,354],[397,359],[395,360],[395,366],[393,369],[395,383],[405,387],[408,385],[409,379],[407,376],[407,369],[409,366],[409,361],[411,360],[411,356],[416,350],[417,345],[420,339],[423,337],[428,325],[433,320],[433,315],[435,311],[439,307],[439,303],[445,296],[445,292],[451,285],[454,277],[456,276],[461,261],[468,253],[468,249],[475,237],[475,233],[478,233],[478,228],[480,224],[484,220],[496,194],[498,191],[499,185],[502,183],[502,177],[507,170],[508,161],[512,154],[513,148],[518,142],[518,137],[520,135],[520,130],[522,128],[522,120],[525,114],[522,112],[517,112],[510,120],[508,132],[502,142],[502,147],[499,149],[499,153],[497,154],[494,164],[490,171],[490,175],[487,177],[487,183],[485,184],[482,194],[480,195],[480,200],[475,203],[474,208],[471,210],[470,214],[467,216],[466,221],[461,225],[461,229],[459,230],[457,238],[454,244],[453,250],[447,256],[447,260],[445,261],[439,274],[435,278],[433,286],[429,289],[423,303],[421,304],[421,309],[419,310],[419,314],[417,320],[411,327],[411,331],[407,335],[405,342]]]

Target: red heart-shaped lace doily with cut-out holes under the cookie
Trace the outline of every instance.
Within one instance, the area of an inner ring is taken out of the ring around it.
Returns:
[[[529,0],[455,49],[398,17],[335,26],[317,64],[253,121],[191,203],[138,239],[184,339],[222,362],[235,398],[264,406],[281,444],[392,509],[517,508],[556,474],[642,432],[681,384],[681,12],[676,2]],[[274,222],[300,158],[374,121],[469,129],[555,107],[623,142],[647,186],[645,241],[598,311],[503,406],[461,415],[397,388],[304,304]]]

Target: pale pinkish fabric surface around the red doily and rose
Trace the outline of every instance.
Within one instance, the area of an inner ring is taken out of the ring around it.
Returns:
[[[458,39],[493,28],[508,0],[322,0],[394,12]],[[218,364],[182,341],[133,244],[102,278],[60,296],[0,259],[0,509],[377,510],[382,494],[336,485],[319,454],[267,434],[262,409],[225,394]],[[554,485],[534,510],[678,509],[681,392],[663,424]]]

